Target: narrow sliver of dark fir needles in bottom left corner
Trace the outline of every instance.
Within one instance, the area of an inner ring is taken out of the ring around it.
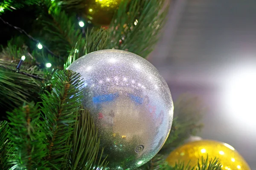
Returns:
[[[14,149],[7,149],[7,146],[10,144],[9,133],[10,128],[7,121],[0,121],[0,170],[7,170],[7,158]]]

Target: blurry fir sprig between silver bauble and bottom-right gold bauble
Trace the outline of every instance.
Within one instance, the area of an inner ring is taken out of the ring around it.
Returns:
[[[203,125],[200,123],[205,108],[197,97],[182,95],[174,103],[175,119],[166,143],[160,153],[170,153],[173,148],[182,144],[190,135],[195,135]]]

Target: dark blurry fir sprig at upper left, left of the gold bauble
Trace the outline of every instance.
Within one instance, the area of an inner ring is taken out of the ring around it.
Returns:
[[[48,46],[51,46],[55,54],[67,58],[68,52],[82,39],[80,30],[76,28],[76,17],[68,15],[55,5],[49,7],[49,16],[42,17],[41,22]]]

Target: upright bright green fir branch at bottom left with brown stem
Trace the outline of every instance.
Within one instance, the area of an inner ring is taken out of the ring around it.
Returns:
[[[49,170],[45,167],[47,161],[46,135],[43,127],[38,125],[40,114],[38,106],[25,104],[23,107],[8,112],[9,125],[12,127],[9,136],[12,145],[7,149],[10,153],[9,162],[12,170]]]

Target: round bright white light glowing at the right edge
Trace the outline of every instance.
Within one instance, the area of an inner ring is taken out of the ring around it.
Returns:
[[[250,129],[254,129],[256,127],[256,67],[244,66],[237,70],[228,76],[223,103],[227,112],[230,112],[228,116],[231,121],[239,121],[240,124],[253,126]]]

